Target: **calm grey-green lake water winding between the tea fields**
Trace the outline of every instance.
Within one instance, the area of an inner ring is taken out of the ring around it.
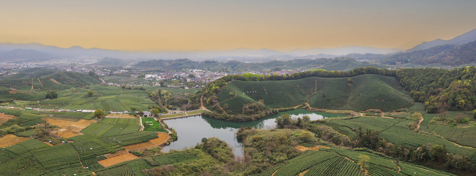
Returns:
[[[275,119],[281,114],[290,114],[292,118],[302,117],[308,115],[311,120],[317,120],[328,117],[343,117],[346,114],[326,113],[308,111],[304,109],[290,110],[281,112],[266,118],[262,118],[250,122],[231,122],[225,120],[218,120],[201,115],[170,119],[166,120],[168,127],[177,131],[178,140],[172,142],[170,145],[162,149],[164,152],[170,150],[182,150],[184,148],[195,147],[200,143],[202,138],[218,137],[225,141],[233,150],[235,155],[243,155],[243,148],[241,143],[236,139],[235,132],[243,127],[256,127],[260,129],[271,129],[276,127]]]

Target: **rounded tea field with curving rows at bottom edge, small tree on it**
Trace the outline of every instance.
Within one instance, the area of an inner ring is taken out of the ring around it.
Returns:
[[[398,162],[392,158],[366,152],[344,149],[319,149],[306,151],[282,164],[270,167],[257,176],[295,176],[306,171],[304,176],[364,176],[357,162],[359,156],[367,155],[368,174],[372,176],[452,176],[452,174],[426,167]],[[398,172],[398,167],[401,168]]]

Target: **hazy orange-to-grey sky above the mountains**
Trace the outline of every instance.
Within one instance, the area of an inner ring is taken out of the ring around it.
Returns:
[[[119,50],[411,48],[476,28],[476,0],[0,0],[0,43]]]

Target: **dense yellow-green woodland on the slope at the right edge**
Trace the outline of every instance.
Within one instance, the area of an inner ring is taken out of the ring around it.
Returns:
[[[425,103],[427,113],[475,109],[474,66],[455,69],[400,69],[396,71],[396,76],[415,101]]]

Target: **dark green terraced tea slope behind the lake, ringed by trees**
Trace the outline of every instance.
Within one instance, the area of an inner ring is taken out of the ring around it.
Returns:
[[[244,104],[263,100],[270,108],[294,107],[308,102],[313,108],[333,110],[391,111],[411,108],[414,103],[397,79],[364,74],[348,78],[308,77],[285,81],[232,81],[218,94],[220,105],[241,113]],[[233,92],[230,95],[229,92]]]

